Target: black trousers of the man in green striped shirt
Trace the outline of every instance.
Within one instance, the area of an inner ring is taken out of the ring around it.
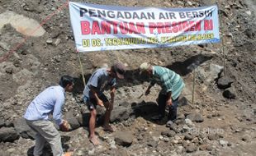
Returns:
[[[159,116],[165,116],[165,107],[167,95],[159,93]],[[173,99],[172,99],[173,100]],[[175,120],[177,118],[178,98],[173,100],[171,106],[168,106],[168,120]]]

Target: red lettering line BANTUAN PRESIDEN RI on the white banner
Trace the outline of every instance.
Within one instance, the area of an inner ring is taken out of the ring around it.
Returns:
[[[213,30],[212,20],[204,21],[205,30]],[[149,22],[149,33],[167,34],[200,31],[201,21]],[[81,21],[81,31],[86,34],[145,34],[143,22]]]

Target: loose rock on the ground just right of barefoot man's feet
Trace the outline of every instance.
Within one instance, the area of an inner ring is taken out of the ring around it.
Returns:
[[[119,131],[116,132],[115,141],[116,145],[130,146],[132,144],[133,135],[130,131]]]

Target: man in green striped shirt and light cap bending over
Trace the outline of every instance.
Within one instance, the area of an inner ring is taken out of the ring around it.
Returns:
[[[140,72],[145,72],[152,78],[149,87],[145,91],[145,95],[150,93],[150,89],[154,84],[158,84],[162,88],[157,99],[159,114],[151,119],[163,119],[165,116],[165,107],[168,105],[168,120],[175,120],[177,117],[178,97],[185,86],[181,76],[166,67],[151,66],[148,62],[140,65]]]

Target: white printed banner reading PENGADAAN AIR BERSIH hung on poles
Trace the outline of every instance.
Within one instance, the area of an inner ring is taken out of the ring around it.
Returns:
[[[78,52],[220,42],[218,7],[154,8],[69,2]]]

